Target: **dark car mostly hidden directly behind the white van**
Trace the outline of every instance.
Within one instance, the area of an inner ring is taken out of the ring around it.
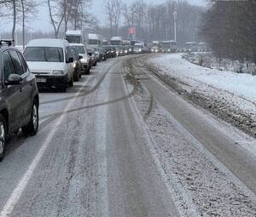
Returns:
[[[83,57],[79,55],[77,49],[73,46],[70,47],[71,53],[68,54],[69,58],[73,58],[73,81],[78,82],[79,78],[82,77],[82,62],[80,61]]]

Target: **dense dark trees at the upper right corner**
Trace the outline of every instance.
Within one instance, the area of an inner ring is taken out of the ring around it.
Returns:
[[[216,1],[204,14],[201,35],[219,60],[256,64],[256,0]]]

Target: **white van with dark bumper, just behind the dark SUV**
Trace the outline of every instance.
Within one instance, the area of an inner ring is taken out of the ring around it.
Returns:
[[[60,89],[73,86],[73,58],[70,47],[63,39],[35,39],[24,51],[26,62],[37,78],[38,87]]]

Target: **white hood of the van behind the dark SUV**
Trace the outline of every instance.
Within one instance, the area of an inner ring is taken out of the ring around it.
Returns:
[[[27,65],[32,73],[52,73],[55,70],[63,70],[64,62],[31,62],[27,61]]]

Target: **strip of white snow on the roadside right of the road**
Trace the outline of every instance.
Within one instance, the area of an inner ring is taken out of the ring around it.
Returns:
[[[153,57],[150,61],[166,74],[179,80],[191,84],[193,80],[196,83],[205,83],[256,103],[256,77],[252,75],[196,66],[188,60],[183,60],[182,54],[163,54]]]

